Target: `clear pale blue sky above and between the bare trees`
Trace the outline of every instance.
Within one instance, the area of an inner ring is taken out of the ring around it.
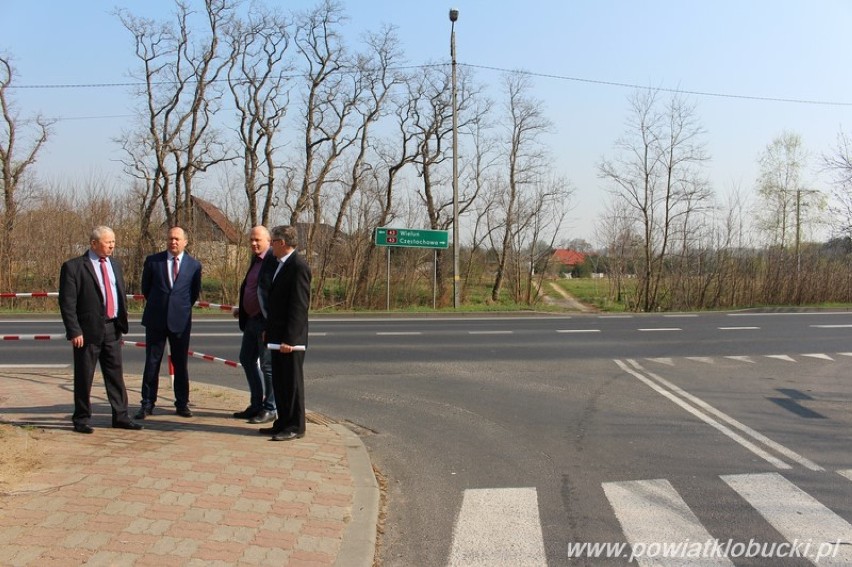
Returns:
[[[306,8],[315,2],[273,2]],[[751,191],[756,159],[783,131],[803,138],[819,156],[841,130],[852,131],[852,51],[847,0],[503,0],[436,2],[348,0],[352,40],[383,23],[398,27],[411,64],[448,61],[450,7],[460,64],[523,69],[533,78],[555,130],[549,139],[556,169],[577,187],[568,238],[593,240],[607,200],[597,179],[602,156],[628,118],[631,88],[682,89],[725,96],[691,96],[707,130],[709,175],[718,195],[733,186]],[[521,7],[523,4],[523,7]],[[114,8],[165,17],[171,0],[0,0],[0,51],[11,54],[18,85],[128,82],[135,64],[131,38]],[[496,87],[500,73],[477,69]],[[24,114],[61,118],[37,165],[50,181],[83,181],[118,171],[112,138],[130,125],[134,100],[123,88],[44,88],[15,91]],[[845,103],[796,104],[740,97]],[[721,200],[721,199],[720,199]]]

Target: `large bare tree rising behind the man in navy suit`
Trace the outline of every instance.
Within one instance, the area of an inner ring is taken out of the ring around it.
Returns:
[[[212,126],[220,108],[219,76],[227,65],[220,45],[233,22],[238,1],[205,0],[199,18],[202,37],[194,40],[189,2],[176,0],[175,26],[117,15],[132,34],[141,65],[140,112],[143,126],[119,142],[127,154],[125,169],[144,183],[140,204],[144,242],[154,241],[151,219],[159,206],[169,224],[192,226],[192,186],[196,175],[227,159]]]

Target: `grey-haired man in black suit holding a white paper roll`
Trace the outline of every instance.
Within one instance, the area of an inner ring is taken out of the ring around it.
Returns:
[[[260,429],[273,441],[305,436],[305,376],[302,364],[308,344],[311,269],[296,252],[298,236],[292,226],[272,229],[272,252],[278,266],[269,287],[266,340],[278,345],[272,354],[272,387],[278,418]]]

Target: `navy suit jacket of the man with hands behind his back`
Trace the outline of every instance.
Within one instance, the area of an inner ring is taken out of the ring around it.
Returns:
[[[184,252],[174,287],[169,285],[169,252],[151,254],[142,267],[145,310],[142,326],[182,333],[192,322],[192,306],[201,294],[201,262]]]

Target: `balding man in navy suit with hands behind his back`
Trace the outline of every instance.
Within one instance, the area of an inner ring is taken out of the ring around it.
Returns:
[[[151,254],[142,267],[145,310],[145,368],[142,371],[142,407],[136,419],[151,415],[157,403],[160,364],[166,341],[174,365],[175,412],[192,417],[189,409],[189,335],[192,306],[201,294],[201,262],[185,252],[186,231],[174,226],[168,233],[168,250]]]

